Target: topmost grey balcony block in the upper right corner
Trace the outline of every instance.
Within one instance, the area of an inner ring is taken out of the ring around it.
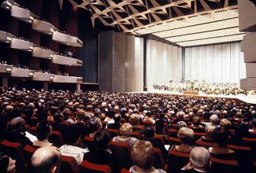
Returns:
[[[256,31],[256,6],[250,0],[239,0],[239,31]]]

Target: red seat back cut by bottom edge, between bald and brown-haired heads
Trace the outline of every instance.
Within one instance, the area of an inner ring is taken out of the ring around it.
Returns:
[[[80,172],[87,172],[87,173],[112,173],[111,168],[109,165],[102,165],[102,164],[92,164],[86,160],[80,164]]]

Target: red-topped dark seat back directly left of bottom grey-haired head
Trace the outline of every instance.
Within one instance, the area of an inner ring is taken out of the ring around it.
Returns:
[[[189,153],[181,153],[175,150],[169,150],[168,154],[168,172],[180,172],[181,167],[184,167],[189,161]]]

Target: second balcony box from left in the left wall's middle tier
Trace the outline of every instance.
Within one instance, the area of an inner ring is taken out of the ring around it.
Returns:
[[[13,38],[11,42],[11,48],[17,50],[24,50],[31,52],[34,49],[35,44],[24,39]]]

